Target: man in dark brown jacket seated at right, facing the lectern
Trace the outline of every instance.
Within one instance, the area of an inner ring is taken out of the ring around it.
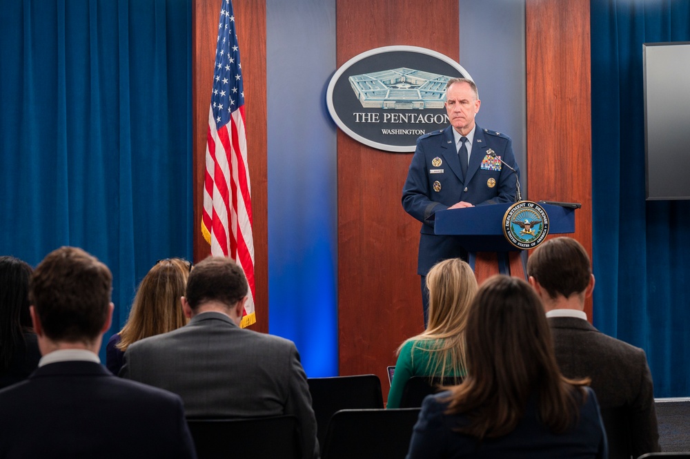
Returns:
[[[660,451],[644,351],[587,322],[584,300],[594,290],[594,275],[584,247],[570,237],[548,240],[529,257],[527,273],[542,298],[562,373],[591,378],[609,438],[609,458],[634,459]]]

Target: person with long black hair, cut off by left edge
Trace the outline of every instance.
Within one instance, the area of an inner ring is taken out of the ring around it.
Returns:
[[[18,258],[0,257],[0,388],[25,379],[41,360],[29,314],[31,271]]]

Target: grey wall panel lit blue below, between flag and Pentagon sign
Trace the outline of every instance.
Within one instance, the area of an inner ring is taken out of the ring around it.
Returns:
[[[337,375],[335,0],[266,1],[266,59],[268,329],[309,377]]]

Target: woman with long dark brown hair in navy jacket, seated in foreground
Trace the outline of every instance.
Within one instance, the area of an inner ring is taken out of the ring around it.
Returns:
[[[477,291],[466,329],[467,375],[424,399],[409,459],[607,458],[587,380],[558,370],[537,294],[495,276]]]

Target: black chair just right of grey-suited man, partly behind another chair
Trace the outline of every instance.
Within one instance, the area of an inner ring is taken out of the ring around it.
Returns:
[[[381,380],[377,375],[307,378],[319,445],[324,445],[328,421],[340,409],[383,408]]]

